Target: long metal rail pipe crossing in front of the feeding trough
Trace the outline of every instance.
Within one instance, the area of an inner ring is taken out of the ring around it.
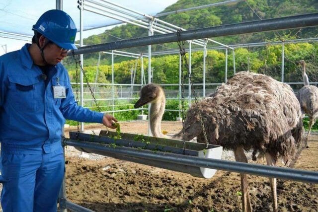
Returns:
[[[173,154],[168,152],[152,152],[144,149],[133,149],[130,147],[116,146],[110,147],[105,144],[93,143],[87,141],[78,141],[72,139],[63,139],[64,145],[71,145],[82,148],[101,150],[106,153],[116,153],[132,157],[152,159],[161,162],[172,162],[180,165],[218,169],[223,171],[246,173],[263,177],[280,178],[285,180],[294,180],[304,183],[318,183],[318,172],[306,171],[300,169],[291,169],[276,166],[267,166],[251,163],[234,162],[219,159],[199,158],[190,155]]]

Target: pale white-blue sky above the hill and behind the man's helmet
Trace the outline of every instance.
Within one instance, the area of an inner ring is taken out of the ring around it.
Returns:
[[[134,9],[145,14],[156,14],[177,0],[112,0],[116,4]],[[64,0],[63,10],[71,15],[79,28],[79,9],[77,0]],[[55,9],[55,0],[0,0],[0,31],[33,35],[32,25],[41,14],[49,9]],[[88,11],[83,13],[84,29],[107,25],[117,20],[97,15]],[[111,28],[111,27],[108,27]],[[83,33],[84,38],[100,34],[106,28],[89,30]],[[76,40],[79,40],[79,33]],[[0,55],[20,49],[27,41],[19,41],[0,37]]]

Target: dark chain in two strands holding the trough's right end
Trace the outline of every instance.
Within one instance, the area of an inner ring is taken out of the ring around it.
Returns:
[[[197,111],[199,113],[200,124],[201,124],[201,127],[202,127],[204,140],[205,140],[206,148],[207,148],[209,142],[208,142],[207,134],[206,134],[206,131],[205,131],[204,123],[203,123],[203,120],[202,120],[202,114],[201,114],[201,111],[199,109],[198,99],[196,97],[196,93],[195,93],[195,90],[194,90],[194,84],[193,84],[193,81],[191,79],[191,73],[189,71],[189,65],[188,65],[188,61],[187,61],[187,57],[186,57],[186,51],[185,51],[185,48],[184,48],[185,41],[182,41],[182,42],[180,41],[180,32],[181,31],[182,31],[181,29],[178,29],[178,31],[177,31],[177,37],[178,37],[177,44],[179,46],[180,55],[181,55],[181,74],[182,74],[182,77],[181,77],[181,93],[182,93],[182,98],[183,98],[183,100],[181,101],[182,102],[181,111],[183,110],[183,115],[182,115],[182,136],[183,136],[182,141],[183,141],[183,148],[185,147],[184,146],[185,145],[185,141],[184,141],[185,138],[184,138],[184,96],[183,96],[183,93],[184,93],[184,74],[183,74],[183,63],[185,63],[185,68],[186,68],[187,73],[188,73],[189,81],[190,81],[190,84],[191,84],[191,91],[192,91],[192,94],[194,96],[194,102],[196,104]],[[183,90],[182,90],[182,87],[183,87]]]

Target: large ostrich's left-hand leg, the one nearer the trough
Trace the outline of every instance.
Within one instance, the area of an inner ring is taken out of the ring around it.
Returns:
[[[246,155],[245,155],[242,147],[237,147],[234,150],[234,156],[235,156],[236,161],[247,163],[247,158],[246,158]],[[252,207],[251,207],[250,201],[249,201],[249,191],[248,191],[247,175],[246,174],[243,174],[243,173],[240,174],[240,187],[241,187],[241,191],[242,191],[242,209],[243,209],[243,212],[251,212]]]

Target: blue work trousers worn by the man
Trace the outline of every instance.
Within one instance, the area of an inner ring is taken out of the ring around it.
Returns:
[[[50,153],[1,151],[3,212],[57,212],[65,162],[62,147]]]

